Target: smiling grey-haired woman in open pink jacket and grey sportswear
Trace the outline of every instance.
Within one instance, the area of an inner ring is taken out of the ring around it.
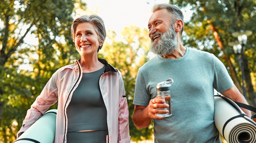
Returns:
[[[55,143],[128,143],[129,113],[121,72],[97,58],[106,38],[102,19],[84,15],[71,34],[81,56],[58,69],[28,110],[20,133],[58,101]]]

